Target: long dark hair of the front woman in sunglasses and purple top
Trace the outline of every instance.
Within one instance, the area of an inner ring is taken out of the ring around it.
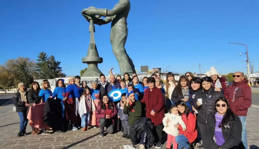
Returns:
[[[235,121],[235,115],[234,113],[232,112],[232,110],[230,110],[229,108],[229,104],[228,104],[228,100],[226,98],[219,98],[216,100],[215,102],[215,109],[216,109],[216,103],[218,101],[223,101],[227,104],[227,111],[226,113],[224,114],[220,124],[219,124],[219,128],[223,127],[225,130],[226,129],[231,129],[232,128],[232,124],[233,122]]]

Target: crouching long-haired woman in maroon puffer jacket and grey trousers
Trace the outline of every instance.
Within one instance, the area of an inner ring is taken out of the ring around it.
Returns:
[[[96,124],[100,127],[100,137],[104,136],[104,127],[106,127],[107,133],[113,134],[114,116],[117,116],[117,109],[109,100],[108,94],[103,94],[102,100],[95,110]]]

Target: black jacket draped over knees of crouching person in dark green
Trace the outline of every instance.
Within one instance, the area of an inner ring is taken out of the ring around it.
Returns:
[[[147,117],[139,118],[129,130],[129,137],[133,145],[140,143],[141,133],[145,131],[147,135],[147,148],[151,148],[155,136],[152,133],[153,125]]]

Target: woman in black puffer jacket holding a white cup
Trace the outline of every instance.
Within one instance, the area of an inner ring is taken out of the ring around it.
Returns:
[[[200,128],[200,134],[202,137],[202,145],[198,148],[203,148],[203,145],[207,144],[205,124],[209,114],[215,111],[215,101],[224,97],[222,92],[218,92],[212,86],[212,80],[210,77],[203,77],[200,85],[202,89],[197,91],[193,99],[193,107],[198,111],[197,123]]]

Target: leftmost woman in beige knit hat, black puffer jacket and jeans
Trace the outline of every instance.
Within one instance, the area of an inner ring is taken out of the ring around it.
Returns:
[[[18,84],[18,92],[15,93],[13,97],[13,103],[16,107],[16,112],[20,117],[20,130],[18,137],[26,135],[26,126],[28,123],[27,119],[27,108],[30,106],[27,100],[27,90],[24,83]]]

